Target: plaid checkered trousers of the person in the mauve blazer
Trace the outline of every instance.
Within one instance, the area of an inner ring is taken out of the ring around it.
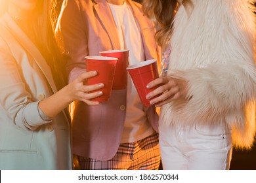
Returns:
[[[86,170],[157,170],[160,166],[158,133],[136,142],[120,144],[114,158],[108,161],[77,156],[80,169]]]

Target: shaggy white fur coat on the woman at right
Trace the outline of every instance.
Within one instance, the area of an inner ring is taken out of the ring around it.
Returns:
[[[171,38],[169,75],[188,80],[190,101],[161,108],[160,122],[232,127],[234,146],[255,135],[255,14],[252,0],[192,0],[181,5]]]

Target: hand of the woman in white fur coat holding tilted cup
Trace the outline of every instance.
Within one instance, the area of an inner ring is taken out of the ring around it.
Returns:
[[[187,82],[181,78],[173,78],[171,76],[164,76],[153,80],[147,85],[147,88],[154,88],[159,86],[153,92],[146,95],[146,99],[152,99],[150,101],[151,105],[156,104],[156,107],[161,107],[171,101],[177,99],[185,99],[187,95]]]

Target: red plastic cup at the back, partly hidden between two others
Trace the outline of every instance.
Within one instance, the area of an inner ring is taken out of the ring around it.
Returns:
[[[101,56],[118,58],[112,90],[123,90],[127,88],[127,66],[129,50],[106,50],[100,52]]]

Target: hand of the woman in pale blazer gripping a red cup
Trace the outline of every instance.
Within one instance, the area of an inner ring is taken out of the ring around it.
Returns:
[[[70,84],[66,86],[68,95],[70,96],[70,101],[79,100],[87,103],[88,105],[98,105],[97,101],[91,101],[91,99],[102,95],[102,92],[93,91],[103,88],[104,84],[99,83],[93,85],[86,85],[87,78],[91,78],[96,75],[96,71],[81,73],[79,76],[77,76],[77,78],[70,82]]]

